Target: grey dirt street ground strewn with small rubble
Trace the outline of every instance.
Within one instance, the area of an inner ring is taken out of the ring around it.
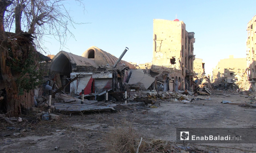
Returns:
[[[25,116],[27,122],[14,127],[0,122],[0,152],[109,152],[108,135],[115,127],[131,125],[143,139],[176,141],[176,128],[255,128],[256,109],[222,104],[222,100],[244,104],[249,98],[230,92],[230,97],[216,95],[212,100],[156,103],[157,108],[84,114],[61,114],[54,121],[35,121]],[[209,97],[209,96],[204,96]],[[144,108],[144,109],[140,109]],[[256,138],[255,138],[256,139]],[[211,147],[214,146],[214,147]],[[255,144],[201,144],[197,148],[211,153],[256,152]],[[227,148],[224,148],[227,147]],[[230,149],[233,148],[233,149]],[[251,151],[250,151],[251,150]]]

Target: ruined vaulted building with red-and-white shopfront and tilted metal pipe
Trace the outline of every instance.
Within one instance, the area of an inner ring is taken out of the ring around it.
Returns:
[[[134,65],[121,58],[95,46],[88,48],[82,56],[60,51],[51,61],[47,84],[53,86],[53,82],[60,89],[73,80],[62,89],[63,92],[74,97],[84,90],[84,95],[95,97],[107,91],[116,100],[123,98],[122,92],[128,89],[127,84],[142,83],[148,89],[155,79],[137,71]]]

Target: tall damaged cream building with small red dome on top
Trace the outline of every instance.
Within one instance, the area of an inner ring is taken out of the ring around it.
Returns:
[[[183,21],[153,20],[153,60],[151,76],[164,71],[166,91],[193,90],[194,32]]]

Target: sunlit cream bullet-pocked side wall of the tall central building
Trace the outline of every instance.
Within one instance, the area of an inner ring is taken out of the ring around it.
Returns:
[[[176,62],[175,68],[181,69],[181,33],[185,28],[186,25],[183,22],[153,20],[153,65],[168,67],[173,57],[175,58],[173,63]]]

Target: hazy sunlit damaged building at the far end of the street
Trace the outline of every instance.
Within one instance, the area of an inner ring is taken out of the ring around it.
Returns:
[[[236,75],[242,75],[246,71],[246,59],[229,58],[221,59],[212,71],[212,84],[215,87],[234,89],[234,83],[238,81]],[[240,88],[240,87],[239,87]]]

